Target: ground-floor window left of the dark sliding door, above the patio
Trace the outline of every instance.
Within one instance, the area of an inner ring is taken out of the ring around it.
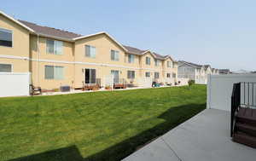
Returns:
[[[63,66],[45,66],[45,79],[64,79],[64,67]]]

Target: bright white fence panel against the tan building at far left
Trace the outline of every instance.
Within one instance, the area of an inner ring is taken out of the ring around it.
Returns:
[[[29,95],[30,73],[0,72],[0,97]]]

